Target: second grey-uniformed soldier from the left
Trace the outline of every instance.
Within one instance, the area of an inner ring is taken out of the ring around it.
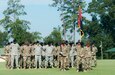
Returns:
[[[37,69],[39,62],[39,68],[41,68],[42,46],[39,44],[39,42],[34,44],[34,53],[35,53],[35,67]]]

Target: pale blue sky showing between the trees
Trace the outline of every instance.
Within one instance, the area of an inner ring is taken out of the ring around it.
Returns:
[[[7,8],[8,0],[0,0],[0,19],[4,16],[2,12]],[[86,0],[90,2],[91,0]],[[25,5],[26,16],[22,18],[24,20],[30,21],[31,25],[30,32],[39,31],[42,33],[42,37],[48,36],[53,27],[61,26],[62,22],[60,20],[60,12],[57,8],[50,7],[52,0],[21,0],[21,3]],[[3,30],[0,26],[0,30]],[[79,34],[76,33],[76,40],[79,39]]]

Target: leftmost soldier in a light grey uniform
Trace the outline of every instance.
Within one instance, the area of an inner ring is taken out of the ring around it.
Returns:
[[[10,45],[11,48],[11,69],[14,68],[14,60],[16,64],[16,68],[19,68],[18,59],[19,59],[19,44],[15,42],[15,40]]]

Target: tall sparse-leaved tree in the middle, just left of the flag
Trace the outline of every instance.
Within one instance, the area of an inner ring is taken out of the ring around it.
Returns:
[[[85,6],[85,2],[81,0],[53,0],[53,7],[58,7],[58,11],[61,11],[61,17],[63,21],[63,31],[65,33],[69,30],[71,33],[74,32],[74,42],[75,42],[75,28],[77,28],[77,14],[79,5]],[[84,11],[84,8],[83,8]],[[66,39],[65,39],[66,40]]]

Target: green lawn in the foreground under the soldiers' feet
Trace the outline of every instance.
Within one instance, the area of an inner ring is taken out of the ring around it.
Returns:
[[[98,60],[98,66],[92,71],[76,72],[75,68],[68,71],[59,69],[9,70],[5,63],[0,63],[0,75],[115,75],[115,60]]]

